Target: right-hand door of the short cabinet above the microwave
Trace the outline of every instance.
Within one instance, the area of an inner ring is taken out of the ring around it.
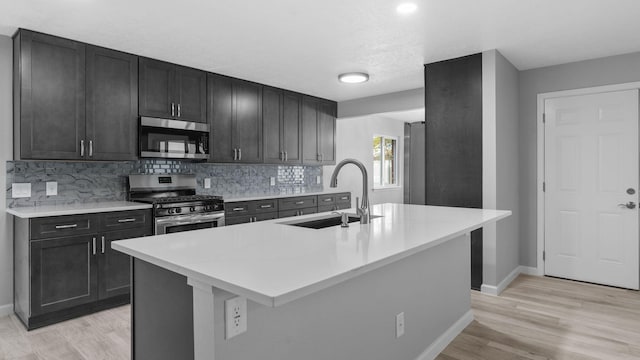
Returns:
[[[207,122],[207,74],[204,71],[177,67],[176,117],[179,120]]]

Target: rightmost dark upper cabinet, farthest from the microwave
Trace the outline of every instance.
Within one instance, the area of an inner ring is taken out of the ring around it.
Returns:
[[[336,162],[336,112],[333,101],[303,96],[302,162],[332,165]]]

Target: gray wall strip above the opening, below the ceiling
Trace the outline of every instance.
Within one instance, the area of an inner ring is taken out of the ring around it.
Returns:
[[[424,108],[424,88],[342,101],[338,118],[382,114]]]

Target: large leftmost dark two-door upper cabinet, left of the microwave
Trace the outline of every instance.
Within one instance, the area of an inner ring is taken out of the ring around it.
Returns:
[[[20,30],[14,37],[14,157],[137,156],[138,58]]]

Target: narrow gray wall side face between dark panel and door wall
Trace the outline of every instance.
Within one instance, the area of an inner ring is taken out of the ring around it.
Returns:
[[[496,51],[496,207],[513,212],[496,226],[496,277],[519,265],[518,70]]]

